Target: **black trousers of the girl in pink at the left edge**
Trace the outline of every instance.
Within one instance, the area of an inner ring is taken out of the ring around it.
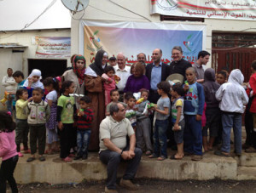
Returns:
[[[13,156],[8,160],[4,160],[0,168],[0,192],[6,192],[6,181],[9,182],[9,186],[12,193],[18,192],[17,184],[14,178],[15,167],[19,160],[19,156]]]

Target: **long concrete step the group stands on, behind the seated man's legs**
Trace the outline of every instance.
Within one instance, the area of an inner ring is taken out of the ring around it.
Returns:
[[[86,161],[62,162],[58,155],[46,156],[45,162],[27,163],[29,155],[21,157],[15,169],[15,179],[19,184],[49,183],[68,184],[86,180],[107,179],[106,166],[100,162],[97,153],[90,153]],[[125,172],[125,163],[120,164],[119,177]],[[183,160],[157,161],[142,157],[137,178],[166,180],[207,180],[236,179],[237,163],[232,157],[220,157],[212,154],[204,156],[200,162],[193,162],[189,156]]]

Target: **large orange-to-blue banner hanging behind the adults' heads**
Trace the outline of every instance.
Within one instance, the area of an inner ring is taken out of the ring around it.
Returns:
[[[127,64],[137,62],[137,54],[146,54],[151,63],[154,48],[161,48],[162,61],[172,61],[172,48],[181,46],[183,57],[194,63],[197,54],[205,48],[206,26],[179,24],[101,22],[84,20],[80,23],[80,54],[87,65],[94,62],[96,52],[104,49],[108,56],[125,54]]]

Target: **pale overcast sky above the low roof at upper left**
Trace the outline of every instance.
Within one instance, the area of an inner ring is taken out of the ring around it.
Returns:
[[[2,0],[0,1],[0,31],[21,30],[43,13],[53,0]],[[42,16],[26,30],[70,28],[69,10],[56,0]]]

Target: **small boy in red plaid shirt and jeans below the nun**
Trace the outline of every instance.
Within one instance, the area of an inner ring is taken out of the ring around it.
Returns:
[[[78,155],[75,160],[87,159],[88,157],[88,145],[90,142],[90,127],[93,121],[93,111],[90,109],[91,100],[88,96],[84,96],[79,100],[80,109],[78,110],[77,121],[77,145]]]

